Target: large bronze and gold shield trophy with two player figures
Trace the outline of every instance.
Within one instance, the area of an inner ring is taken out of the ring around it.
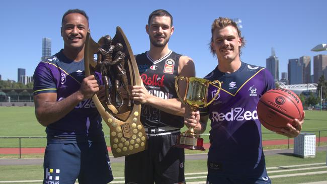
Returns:
[[[95,58],[97,55],[97,59]],[[105,101],[98,95],[93,102],[110,128],[110,146],[114,157],[146,149],[146,134],[140,122],[141,105],[133,103],[128,85],[141,85],[141,78],[128,40],[120,27],[112,39],[103,36],[95,42],[87,34],[85,75],[95,75],[104,84]]]

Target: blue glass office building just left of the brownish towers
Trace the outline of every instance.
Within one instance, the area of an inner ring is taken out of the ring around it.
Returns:
[[[289,84],[303,83],[303,65],[299,59],[289,59],[287,64]]]

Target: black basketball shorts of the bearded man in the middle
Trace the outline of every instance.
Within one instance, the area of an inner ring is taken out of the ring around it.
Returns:
[[[184,149],[176,148],[177,135],[147,135],[147,149],[125,156],[125,183],[185,183]]]

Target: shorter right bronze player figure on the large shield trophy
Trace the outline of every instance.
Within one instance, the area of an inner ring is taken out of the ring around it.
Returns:
[[[118,95],[119,98],[121,99],[121,104],[119,107],[123,106],[124,100],[123,97],[120,93],[119,87],[120,84],[123,85],[126,95],[128,97],[128,107],[131,107],[131,94],[128,89],[128,79],[126,75],[126,70],[125,70],[125,53],[122,52],[123,50],[123,45],[121,43],[117,43],[114,48],[114,65],[111,67],[111,70],[115,74],[114,79],[115,79],[115,90],[116,90],[116,96]]]

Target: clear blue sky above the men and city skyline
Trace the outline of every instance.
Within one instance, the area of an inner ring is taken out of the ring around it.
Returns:
[[[193,58],[198,77],[217,65],[208,43],[211,24],[218,17],[242,20],[242,36],[247,40],[241,55],[244,62],[266,67],[266,58],[274,47],[279,71],[287,72],[288,59],[310,56],[312,67],[313,56],[327,54],[310,51],[327,42],[326,0],[1,1],[2,79],[17,81],[17,68],[25,68],[26,75],[32,76],[42,56],[44,37],[52,40],[52,54],[58,52],[63,47],[62,15],[75,8],[87,12],[95,41],[106,34],[114,36],[116,26],[120,26],[134,54],[149,49],[145,32],[148,15],[156,9],[169,11],[175,26],[169,48]]]

